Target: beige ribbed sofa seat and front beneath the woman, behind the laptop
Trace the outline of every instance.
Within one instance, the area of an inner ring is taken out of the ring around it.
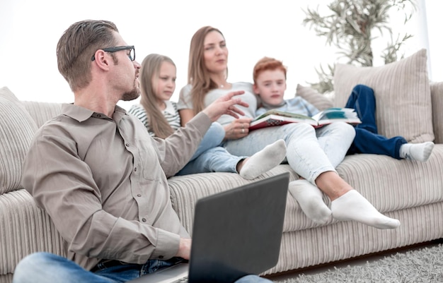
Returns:
[[[289,171],[291,181],[299,178],[289,165],[282,164],[258,179],[284,171]],[[263,275],[386,251],[443,236],[443,219],[440,217],[443,183],[442,179],[436,178],[443,176],[442,144],[435,145],[432,156],[425,163],[361,154],[347,156],[337,171],[380,212],[400,219],[401,226],[382,230],[332,219],[318,225],[304,215],[297,201],[288,194],[279,262]],[[248,182],[233,173],[195,174],[192,181],[187,178],[175,176],[169,179],[169,186],[173,207],[188,231],[192,231],[194,212],[190,207],[199,198]],[[330,205],[328,198],[323,199]]]

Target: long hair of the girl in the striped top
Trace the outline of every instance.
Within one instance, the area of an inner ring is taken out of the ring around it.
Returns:
[[[174,132],[157,106],[155,89],[163,62],[169,62],[176,66],[168,56],[149,54],[144,58],[140,70],[140,90],[142,92],[140,104],[142,104],[142,107],[146,111],[149,128],[154,132],[155,136],[159,138],[167,138]]]

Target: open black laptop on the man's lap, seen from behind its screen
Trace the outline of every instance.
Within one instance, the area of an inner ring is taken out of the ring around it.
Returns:
[[[189,263],[131,283],[234,282],[277,264],[289,173],[200,198],[195,204]],[[184,279],[184,280],[183,280]]]

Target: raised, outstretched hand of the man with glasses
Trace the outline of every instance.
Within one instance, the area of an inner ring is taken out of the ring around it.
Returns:
[[[235,107],[236,104],[243,107],[248,107],[249,104],[242,102],[240,98],[235,97],[236,95],[243,95],[245,93],[243,90],[238,90],[234,92],[229,92],[227,95],[219,97],[211,104],[209,104],[205,109],[202,110],[211,121],[217,121],[223,114],[234,116],[238,118],[238,114],[244,115],[244,113]]]

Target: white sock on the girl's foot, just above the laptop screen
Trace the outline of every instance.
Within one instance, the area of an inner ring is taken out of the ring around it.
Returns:
[[[282,163],[284,157],[286,157],[286,144],[284,140],[277,140],[249,157],[239,174],[244,179],[255,179]]]

